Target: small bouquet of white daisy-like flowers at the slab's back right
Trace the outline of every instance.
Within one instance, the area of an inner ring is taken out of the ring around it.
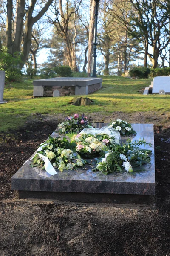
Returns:
[[[119,118],[116,121],[111,122],[109,127],[115,128],[117,131],[119,131],[121,136],[129,136],[136,134],[136,131],[133,130],[132,125],[130,123],[122,121]]]

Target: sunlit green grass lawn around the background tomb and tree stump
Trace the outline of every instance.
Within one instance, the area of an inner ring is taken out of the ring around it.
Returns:
[[[143,95],[143,89],[149,86],[151,79],[133,80],[121,76],[103,76],[102,89],[88,95],[94,100],[90,106],[73,106],[68,102],[74,96],[33,98],[33,81],[6,85],[3,99],[7,104],[0,105],[0,131],[18,128],[33,113],[59,114],[99,113],[103,117],[110,113],[147,112],[168,113],[170,95]]]

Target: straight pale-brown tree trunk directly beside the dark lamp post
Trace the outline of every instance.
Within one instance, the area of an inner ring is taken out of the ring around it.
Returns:
[[[91,75],[92,69],[92,55],[94,44],[94,19],[95,19],[95,1],[90,1],[90,24],[89,24],[89,38],[88,38],[88,76]]]

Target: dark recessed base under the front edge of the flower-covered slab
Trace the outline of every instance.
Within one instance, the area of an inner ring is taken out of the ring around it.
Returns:
[[[81,203],[107,203],[107,204],[153,204],[152,195],[120,195],[104,193],[73,193],[48,191],[18,191],[19,199],[48,199]]]

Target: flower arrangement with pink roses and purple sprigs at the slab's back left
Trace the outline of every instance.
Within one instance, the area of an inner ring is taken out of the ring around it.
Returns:
[[[65,118],[65,122],[58,125],[58,131],[59,134],[79,133],[86,127],[92,127],[90,125],[87,116],[74,114],[74,117],[68,116]]]

